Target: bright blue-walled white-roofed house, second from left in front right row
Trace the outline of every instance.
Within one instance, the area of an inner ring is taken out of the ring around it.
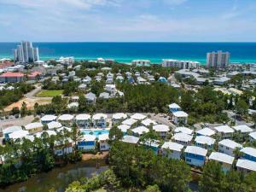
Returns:
[[[196,146],[188,146],[184,152],[187,164],[192,166],[204,166],[207,156],[207,149]]]

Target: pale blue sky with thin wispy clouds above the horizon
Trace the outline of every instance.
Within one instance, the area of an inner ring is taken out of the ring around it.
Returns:
[[[0,0],[0,42],[256,42],[255,0]]]

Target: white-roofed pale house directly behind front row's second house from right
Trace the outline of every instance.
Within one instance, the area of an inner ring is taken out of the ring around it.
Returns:
[[[230,139],[224,139],[218,143],[218,152],[223,154],[229,154],[230,156],[235,156],[235,148],[242,148],[241,144],[236,143]]]

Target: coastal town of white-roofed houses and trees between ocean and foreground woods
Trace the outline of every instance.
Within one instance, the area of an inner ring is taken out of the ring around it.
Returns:
[[[256,64],[231,63],[229,52],[206,54],[206,66],[173,59],[40,61],[39,49],[22,42],[14,60],[0,61],[1,167],[18,170],[34,152],[43,158],[38,165],[49,166],[40,172],[88,154],[112,159],[119,142],[200,175],[212,161],[224,174],[256,172]],[[18,145],[26,147],[19,153]]]

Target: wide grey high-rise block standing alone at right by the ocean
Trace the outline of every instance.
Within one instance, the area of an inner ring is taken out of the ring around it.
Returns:
[[[226,68],[230,64],[230,53],[218,52],[207,53],[207,67],[208,68]]]

